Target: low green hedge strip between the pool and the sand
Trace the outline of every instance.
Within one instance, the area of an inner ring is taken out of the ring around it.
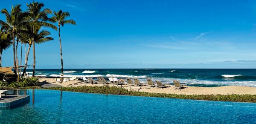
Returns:
[[[160,97],[160,98],[180,98],[180,99],[193,99],[193,100],[209,100],[209,101],[233,101],[233,102],[254,102],[256,103],[256,95],[180,95],[180,94],[166,94],[166,93],[150,93],[150,92],[137,92],[120,87],[0,87],[3,89],[52,89],[63,90],[71,92],[87,92],[87,93],[101,93],[101,94],[113,94],[113,95],[132,95],[132,96],[147,96],[147,97]]]

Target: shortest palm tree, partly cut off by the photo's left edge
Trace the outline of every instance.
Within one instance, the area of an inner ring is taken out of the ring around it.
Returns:
[[[11,45],[12,38],[10,34],[0,30],[0,67],[2,66],[2,53],[3,50],[8,49]]]

